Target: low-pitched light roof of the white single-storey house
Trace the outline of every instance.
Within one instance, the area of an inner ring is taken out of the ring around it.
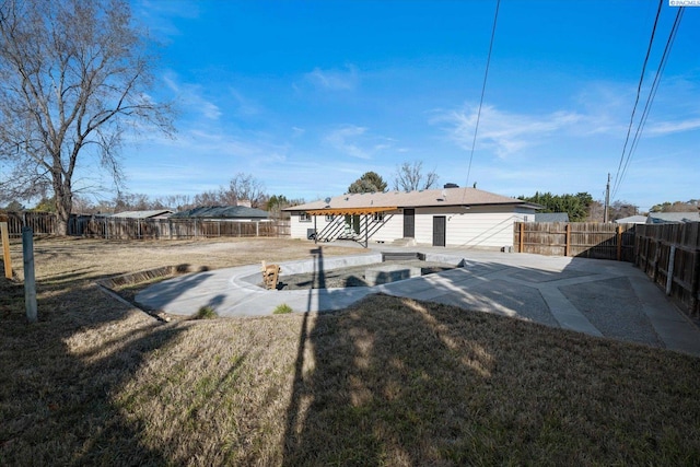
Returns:
[[[326,200],[307,202],[285,208],[284,211],[317,211],[318,213],[335,213],[334,211],[357,210],[389,211],[398,208],[429,208],[445,206],[522,206],[541,209],[541,206],[522,199],[509,198],[476,188],[444,188],[415,191],[358,192],[346,194]],[[383,209],[380,209],[383,208]],[[362,211],[362,212],[361,212]],[[369,213],[369,212],[368,212]]]

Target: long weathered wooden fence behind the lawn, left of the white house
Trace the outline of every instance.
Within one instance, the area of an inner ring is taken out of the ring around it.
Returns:
[[[180,240],[197,237],[280,237],[290,235],[289,221],[224,219],[124,219],[71,217],[69,235],[118,240]]]

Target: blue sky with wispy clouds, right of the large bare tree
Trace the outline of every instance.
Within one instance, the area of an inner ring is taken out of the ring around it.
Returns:
[[[639,144],[618,167],[657,2],[132,0],[162,44],[175,139],[122,151],[128,189],[190,195],[252,174],[312,201],[421,161],[440,186],[587,191],[640,209],[700,198],[700,8],[686,8]],[[633,130],[678,9],[664,5]]]

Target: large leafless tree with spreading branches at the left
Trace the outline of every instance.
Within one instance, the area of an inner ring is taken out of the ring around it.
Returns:
[[[0,191],[50,187],[66,234],[79,162],[119,187],[125,131],[173,131],[170,106],[147,94],[149,50],[127,0],[2,0]]]

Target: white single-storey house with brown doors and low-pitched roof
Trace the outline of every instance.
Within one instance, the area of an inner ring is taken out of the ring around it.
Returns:
[[[450,186],[450,185],[448,185]],[[513,224],[534,222],[541,206],[479,190],[347,194],[285,208],[292,238],[429,244],[500,249],[513,246]]]

